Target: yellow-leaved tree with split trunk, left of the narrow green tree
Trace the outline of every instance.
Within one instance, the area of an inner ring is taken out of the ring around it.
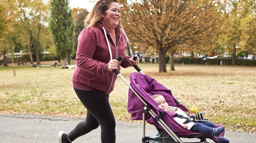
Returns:
[[[30,63],[33,64],[32,51],[36,55],[36,62],[39,65],[39,43],[42,32],[46,32],[48,22],[49,4],[44,0],[16,1],[18,15],[17,27],[21,33],[20,41],[27,45]]]

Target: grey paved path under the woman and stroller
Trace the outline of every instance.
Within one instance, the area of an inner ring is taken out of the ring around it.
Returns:
[[[0,141],[3,143],[57,143],[57,134],[60,130],[69,132],[82,120],[83,118],[73,117],[0,114]],[[156,132],[153,125],[146,126],[146,136]],[[117,143],[139,143],[142,138],[142,125],[117,121],[116,136]],[[225,137],[230,140],[230,143],[256,142],[255,133],[226,131]],[[192,140],[183,139],[183,141]],[[99,143],[100,128],[77,138],[75,142]]]

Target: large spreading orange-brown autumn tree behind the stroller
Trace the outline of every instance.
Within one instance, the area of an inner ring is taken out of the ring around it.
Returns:
[[[204,44],[215,35],[216,1],[123,0],[121,4],[126,34],[132,42],[157,48],[159,72],[166,72],[168,50],[175,51],[183,44]]]

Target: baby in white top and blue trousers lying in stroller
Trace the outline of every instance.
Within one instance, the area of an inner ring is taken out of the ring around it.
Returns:
[[[168,106],[162,95],[156,94],[152,98],[157,102],[158,107],[165,111],[176,112],[177,115],[189,118],[189,116],[180,108]],[[220,143],[229,143],[229,140],[222,137],[220,134],[225,130],[224,127],[215,128],[215,125],[209,121],[201,122],[188,122],[185,118],[180,118],[180,116],[174,116],[174,120],[178,122],[182,127],[191,130],[193,132],[199,132],[204,134],[209,134],[215,136]]]

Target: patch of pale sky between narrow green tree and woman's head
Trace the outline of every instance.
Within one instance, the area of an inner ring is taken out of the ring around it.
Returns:
[[[89,2],[89,0],[69,0],[70,7],[87,9],[89,12],[92,10],[95,2]]]

